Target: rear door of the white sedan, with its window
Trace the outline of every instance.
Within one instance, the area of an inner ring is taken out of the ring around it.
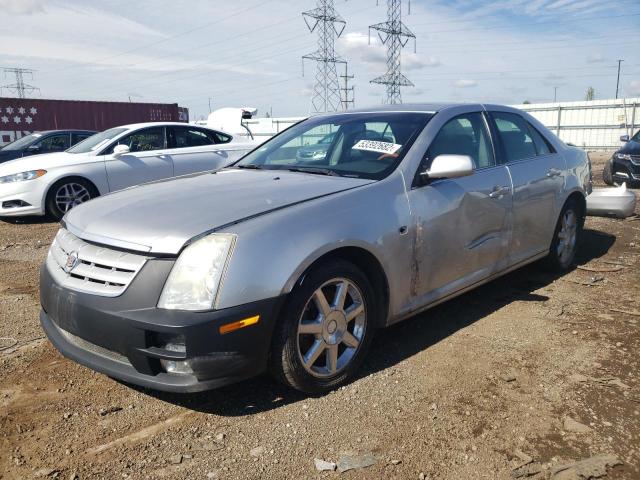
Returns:
[[[176,176],[222,168],[235,159],[215,132],[197,127],[168,128],[168,149]]]

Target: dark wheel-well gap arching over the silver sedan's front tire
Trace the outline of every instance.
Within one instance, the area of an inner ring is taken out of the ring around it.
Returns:
[[[305,262],[306,266],[301,268],[302,271],[297,271],[292,276],[292,279],[287,282],[287,286],[285,287],[286,293],[290,293],[295,285],[304,282],[305,276],[311,269],[332,259],[341,259],[350,262],[362,270],[367,276],[376,293],[378,308],[380,308],[382,312],[382,314],[378,316],[380,324],[377,326],[386,326],[390,304],[389,280],[382,266],[382,262],[369,249],[362,246],[340,246],[311,257]]]

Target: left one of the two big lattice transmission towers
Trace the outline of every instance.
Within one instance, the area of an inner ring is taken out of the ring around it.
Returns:
[[[302,13],[309,31],[318,31],[318,49],[302,57],[303,75],[304,61],[316,62],[316,81],[311,97],[314,113],[335,112],[342,108],[336,64],[345,63],[345,60],[336,54],[335,42],[347,23],[336,12],[333,4],[334,0],[317,0],[315,9]]]

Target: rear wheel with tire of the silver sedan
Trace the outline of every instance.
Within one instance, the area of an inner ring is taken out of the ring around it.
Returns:
[[[583,212],[578,202],[569,199],[562,207],[546,259],[549,270],[566,272],[573,265],[582,236]]]

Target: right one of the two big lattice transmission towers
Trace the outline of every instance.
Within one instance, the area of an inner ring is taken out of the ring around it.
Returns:
[[[387,86],[385,103],[402,103],[400,87],[413,87],[413,83],[401,72],[400,56],[410,39],[413,39],[415,50],[416,41],[413,32],[402,23],[402,0],[387,0],[387,21],[369,27],[369,41],[372,29],[378,32],[380,41],[387,46],[387,73],[374,78],[371,83]]]

